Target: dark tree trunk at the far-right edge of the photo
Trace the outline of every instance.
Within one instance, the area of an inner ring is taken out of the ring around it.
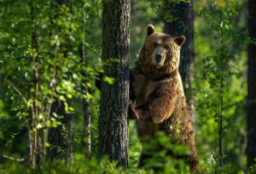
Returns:
[[[256,1],[248,1],[248,31],[249,36],[256,39]],[[256,45],[248,45],[247,72],[247,166],[256,163]]]

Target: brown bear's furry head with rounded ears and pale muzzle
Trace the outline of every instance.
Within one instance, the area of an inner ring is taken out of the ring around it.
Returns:
[[[161,74],[178,70],[180,48],[185,42],[185,36],[172,37],[162,32],[155,32],[154,25],[148,25],[147,36],[138,61],[146,71],[161,71]],[[147,73],[147,72],[145,72]]]

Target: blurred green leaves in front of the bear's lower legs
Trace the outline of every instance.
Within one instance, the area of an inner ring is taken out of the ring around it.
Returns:
[[[163,173],[189,173],[189,165],[185,163],[189,156],[185,144],[174,144],[174,139],[165,132],[156,132],[155,138],[147,138],[143,143],[142,154],[149,158],[145,160],[145,169],[160,170]]]

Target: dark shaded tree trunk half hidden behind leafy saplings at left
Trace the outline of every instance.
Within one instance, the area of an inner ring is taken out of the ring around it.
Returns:
[[[57,0],[58,5],[69,5],[68,0]],[[70,9],[71,11],[71,9]],[[57,14],[56,18],[60,17],[61,14]],[[61,26],[63,27],[63,26]],[[57,27],[56,27],[57,28]],[[58,32],[57,29],[55,29]],[[61,29],[60,29],[61,30]],[[70,31],[70,28],[68,29]],[[61,42],[60,47],[65,47],[66,49],[58,49],[61,50],[63,56],[68,59],[68,52],[71,51],[71,46],[69,43],[68,35],[63,35],[61,32],[59,33],[60,36],[63,36],[63,41]],[[65,50],[65,51],[63,51]],[[56,66],[56,83],[61,81],[61,68]],[[70,72],[68,72],[70,73]],[[69,74],[67,74],[69,76]],[[67,77],[68,78],[68,77]],[[71,99],[67,98],[67,105],[71,106]],[[50,116],[53,116],[55,113],[58,115],[57,121],[61,122],[60,126],[51,127],[49,128],[49,135],[48,135],[48,142],[50,147],[48,149],[48,157],[49,159],[53,160],[63,159],[67,162],[73,162],[73,120],[72,115],[69,112],[65,111],[65,104],[61,101],[60,98],[55,98],[55,102],[52,104]],[[63,116],[63,118],[60,118]]]

